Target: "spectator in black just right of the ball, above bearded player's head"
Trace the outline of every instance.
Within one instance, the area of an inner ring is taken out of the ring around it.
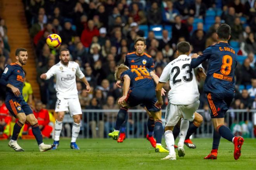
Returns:
[[[60,32],[62,44],[71,45],[72,39],[76,36],[76,32],[71,29],[71,23],[65,22],[64,28]]]

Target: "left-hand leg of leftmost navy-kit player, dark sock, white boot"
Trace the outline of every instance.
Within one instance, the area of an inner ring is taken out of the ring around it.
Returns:
[[[16,118],[18,118],[19,120],[14,125],[13,132],[12,132],[12,138],[9,141],[8,145],[11,148],[13,148],[15,151],[24,151],[24,149],[22,149],[19,146],[19,144],[17,143],[17,138],[18,138],[19,132],[21,131],[22,126],[26,122],[26,115],[25,115],[25,113],[18,113],[16,115]]]

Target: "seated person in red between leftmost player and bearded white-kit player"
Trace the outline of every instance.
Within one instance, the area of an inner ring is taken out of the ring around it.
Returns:
[[[50,122],[49,113],[48,110],[43,108],[42,101],[36,102],[35,110],[33,110],[33,113],[38,120],[39,128],[43,137],[50,137],[52,127],[48,125]],[[32,129],[29,129],[28,134],[33,135]]]

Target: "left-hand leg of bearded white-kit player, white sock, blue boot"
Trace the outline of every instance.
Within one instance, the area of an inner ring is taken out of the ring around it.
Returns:
[[[54,124],[54,143],[55,146],[52,149],[57,149],[59,146],[59,140],[61,135],[61,129],[62,129],[62,121],[64,118],[65,112],[57,112],[57,119],[55,120]]]

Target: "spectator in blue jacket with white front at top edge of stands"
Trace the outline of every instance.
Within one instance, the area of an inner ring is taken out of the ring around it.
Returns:
[[[163,22],[166,24],[173,24],[175,23],[174,18],[176,15],[180,15],[180,12],[173,8],[173,2],[171,0],[168,0],[166,4],[167,8],[162,10]]]

